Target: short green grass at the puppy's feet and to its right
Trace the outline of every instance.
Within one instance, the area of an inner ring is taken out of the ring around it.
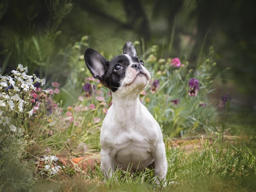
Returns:
[[[251,143],[252,142],[252,143]],[[166,140],[166,146],[173,143]],[[191,145],[193,143],[193,145]],[[192,146],[186,149],[186,146]],[[250,146],[250,147],[248,147]],[[186,140],[177,147],[168,147],[168,185],[156,186],[153,170],[130,173],[117,170],[118,181],[103,182],[99,165],[87,174],[76,172],[73,176],[63,173],[52,178],[56,191],[245,191],[256,190],[255,141],[212,139]],[[49,181],[48,181],[49,182]],[[57,184],[57,183],[58,184]],[[64,184],[64,183],[65,184]],[[42,181],[35,185],[41,186]],[[64,184],[64,185],[63,185]]]

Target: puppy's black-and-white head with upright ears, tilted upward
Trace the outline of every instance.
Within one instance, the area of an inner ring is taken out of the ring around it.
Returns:
[[[150,74],[143,61],[137,58],[135,47],[126,42],[123,55],[108,61],[94,49],[85,51],[85,63],[94,78],[112,92],[141,92],[150,80]]]

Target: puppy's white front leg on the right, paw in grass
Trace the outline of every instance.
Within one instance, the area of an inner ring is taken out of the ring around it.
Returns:
[[[155,163],[155,176],[158,177],[158,179],[156,179],[156,183],[159,184],[160,181],[165,179],[168,169],[166,152],[163,142],[158,143],[157,146],[155,147],[153,158]],[[164,182],[163,185],[165,186],[166,183]]]

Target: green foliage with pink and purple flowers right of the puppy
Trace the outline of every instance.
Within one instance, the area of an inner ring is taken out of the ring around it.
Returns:
[[[143,103],[165,134],[191,135],[198,134],[202,129],[207,132],[215,131],[211,124],[218,113],[216,106],[207,98],[207,94],[213,92],[212,84],[216,78],[213,48],[210,48],[208,58],[195,69],[189,69],[189,62],[186,60],[181,65],[180,62],[177,63],[177,59],[158,58],[157,46],[149,49],[145,66],[152,71],[152,83],[146,89],[147,94],[142,96]],[[191,78],[199,80],[200,86],[193,96],[189,95]],[[153,85],[156,82],[157,87]]]

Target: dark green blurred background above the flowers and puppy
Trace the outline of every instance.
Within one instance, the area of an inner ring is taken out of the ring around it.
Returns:
[[[233,108],[255,119],[255,7],[253,0],[1,0],[1,73],[22,63],[63,86],[75,67],[83,78],[88,47],[111,58],[137,40],[138,55],[157,45],[159,58],[193,68],[213,46],[220,76],[211,96],[231,94]]]

